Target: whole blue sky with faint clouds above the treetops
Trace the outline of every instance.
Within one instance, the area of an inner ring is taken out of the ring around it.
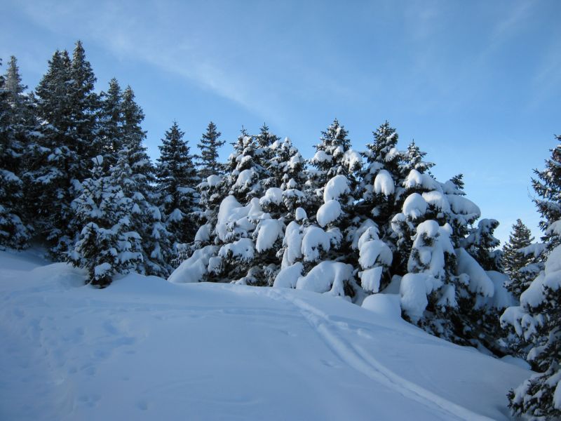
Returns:
[[[0,57],[33,88],[81,39],[98,90],[133,87],[154,159],[174,119],[191,147],[210,120],[228,141],[266,121],[308,158],[334,117],[359,150],[388,119],[440,181],[464,173],[504,240],[516,218],[539,234],[530,178],[561,133],[560,16],[557,0],[4,0]]]

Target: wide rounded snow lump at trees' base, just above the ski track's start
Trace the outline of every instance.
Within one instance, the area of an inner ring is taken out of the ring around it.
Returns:
[[[353,277],[353,266],[342,262],[324,260],[314,266],[306,276],[301,276],[296,289],[309,290],[315,293],[331,293],[344,296],[344,281]]]

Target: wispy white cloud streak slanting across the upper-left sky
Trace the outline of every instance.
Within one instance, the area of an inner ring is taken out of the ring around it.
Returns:
[[[250,69],[245,67],[247,63],[224,60],[213,54],[216,48],[187,31],[162,29],[165,28],[162,21],[170,18],[170,11],[158,8],[157,3],[149,6],[156,15],[135,17],[130,15],[128,7],[111,2],[97,4],[95,11],[79,3],[28,3],[22,6],[29,18],[50,31],[74,32],[77,38],[95,42],[116,58],[158,67],[234,101],[268,121],[280,123],[283,120],[273,90],[264,89],[251,78]],[[182,36],[177,38],[180,33]]]

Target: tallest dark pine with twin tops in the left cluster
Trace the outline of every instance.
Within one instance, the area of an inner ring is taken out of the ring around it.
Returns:
[[[96,156],[100,148],[93,83],[95,76],[78,41],[72,60],[67,51],[54,53],[36,88],[39,125],[36,142],[27,151],[26,179],[30,213],[54,258],[64,258],[76,240],[69,230],[70,203],[87,175],[82,160]]]

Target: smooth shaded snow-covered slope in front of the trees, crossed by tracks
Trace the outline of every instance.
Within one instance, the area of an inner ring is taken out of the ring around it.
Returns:
[[[530,374],[427,335],[391,302],[83,279],[0,252],[0,420],[505,420]]]

